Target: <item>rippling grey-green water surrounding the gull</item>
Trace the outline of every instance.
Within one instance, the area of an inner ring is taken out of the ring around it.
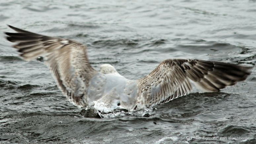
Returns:
[[[0,142],[256,143],[255,68],[244,82],[195,90],[151,116],[90,118],[66,101],[43,62],[18,57],[6,24],[84,43],[93,67],[109,63],[138,79],[167,58],[255,64],[255,0],[1,1]]]

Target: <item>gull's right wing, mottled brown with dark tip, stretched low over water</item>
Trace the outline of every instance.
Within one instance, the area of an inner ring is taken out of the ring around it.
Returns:
[[[204,91],[219,91],[243,81],[252,66],[196,59],[167,59],[146,77],[137,80],[138,103],[154,106],[191,92],[189,79]]]

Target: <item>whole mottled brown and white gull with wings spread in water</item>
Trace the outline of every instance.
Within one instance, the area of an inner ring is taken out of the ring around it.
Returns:
[[[129,80],[110,64],[93,69],[87,48],[79,42],[44,36],[10,26],[16,33],[5,32],[15,42],[24,60],[47,57],[46,65],[67,99],[76,106],[90,106],[101,112],[115,109],[137,111],[169,102],[198,89],[217,92],[235,85],[250,75],[253,66],[198,59],[166,59],[150,74]]]

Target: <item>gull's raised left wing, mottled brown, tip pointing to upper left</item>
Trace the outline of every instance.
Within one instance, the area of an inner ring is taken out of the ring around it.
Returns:
[[[96,71],[87,58],[86,47],[68,39],[48,37],[10,26],[17,33],[6,32],[7,40],[17,43],[24,60],[46,56],[46,64],[54,74],[63,94],[75,105],[85,106],[84,93]]]

